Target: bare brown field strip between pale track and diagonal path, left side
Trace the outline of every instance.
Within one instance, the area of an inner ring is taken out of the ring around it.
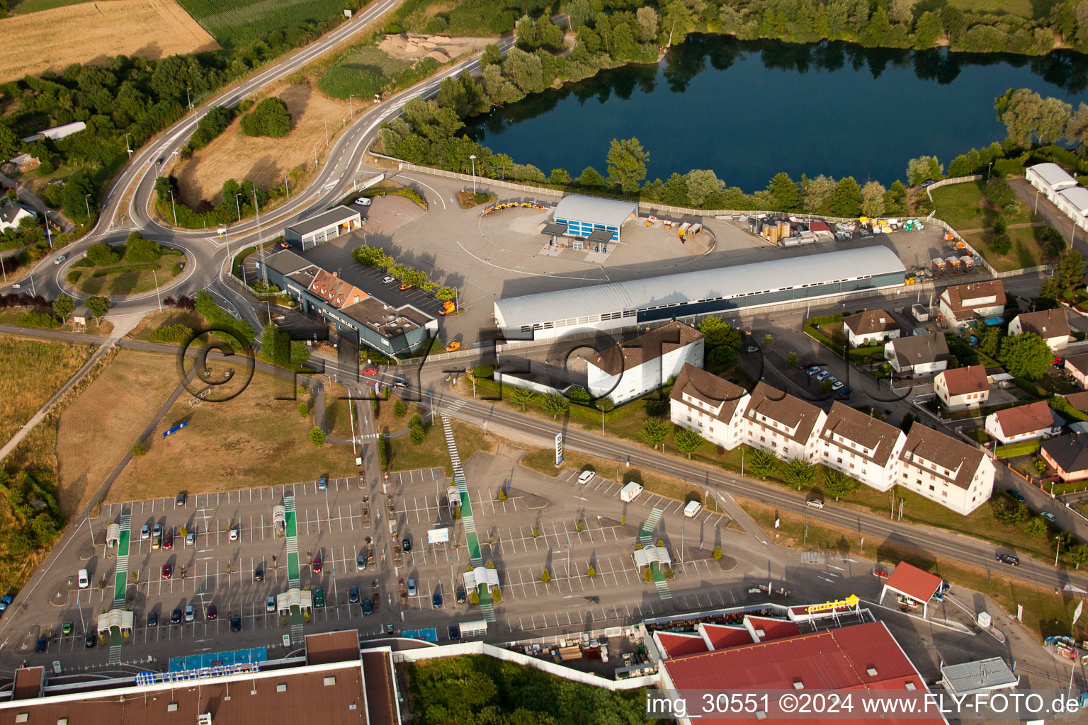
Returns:
[[[177,387],[176,359],[121,350],[61,415],[57,459],[61,510],[88,503]]]

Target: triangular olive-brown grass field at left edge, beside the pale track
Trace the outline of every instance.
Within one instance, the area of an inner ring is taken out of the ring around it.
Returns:
[[[10,440],[92,354],[92,345],[0,336],[0,440]]]

